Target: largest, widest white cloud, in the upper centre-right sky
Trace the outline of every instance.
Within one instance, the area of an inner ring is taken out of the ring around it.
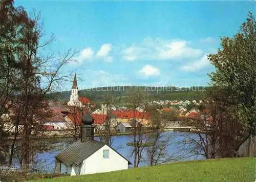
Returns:
[[[145,38],[141,43],[133,43],[122,50],[122,59],[135,60],[171,60],[181,58],[197,58],[203,54],[200,49],[188,46],[185,40],[163,40]]]

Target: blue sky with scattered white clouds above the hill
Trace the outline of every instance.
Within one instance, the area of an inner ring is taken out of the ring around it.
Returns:
[[[233,36],[255,1],[15,1],[41,13],[51,50],[77,50],[79,88],[206,85],[220,36]],[[70,82],[62,89],[69,90]]]

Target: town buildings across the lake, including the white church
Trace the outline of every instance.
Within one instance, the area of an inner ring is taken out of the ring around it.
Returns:
[[[142,127],[152,126],[151,113],[146,112],[142,107],[128,109],[123,106],[118,107],[117,105],[101,103],[100,108],[96,108],[95,104],[89,98],[78,95],[76,75],[74,76],[71,87],[70,101],[67,105],[60,104],[60,102],[58,104],[56,102],[55,104],[53,103],[53,101],[49,101],[54,115],[52,118],[42,121],[47,130],[63,130],[63,133],[65,133],[65,130],[79,127],[82,116],[87,112],[90,112],[94,118],[95,131],[105,130],[108,124],[111,125],[110,128],[112,130],[117,131],[127,131],[131,129],[130,126],[133,127],[138,124]],[[172,126],[181,125],[181,123],[184,123],[182,122],[184,119],[197,117],[199,110],[193,108],[199,103],[195,100],[191,102],[188,100],[154,100],[148,102],[148,104],[159,105],[160,112],[165,112],[167,115],[168,113],[171,115],[175,114],[175,119],[172,119],[172,121],[175,120],[172,122]],[[188,107],[191,109],[187,109]],[[164,122],[166,121],[167,119]]]

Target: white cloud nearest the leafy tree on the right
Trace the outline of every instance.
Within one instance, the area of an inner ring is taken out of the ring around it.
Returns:
[[[187,63],[184,66],[181,66],[181,70],[185,72],[197,72],[206,67],[210,66],[210,62],[207,59],[207,56],[203,56],[201,59]]]

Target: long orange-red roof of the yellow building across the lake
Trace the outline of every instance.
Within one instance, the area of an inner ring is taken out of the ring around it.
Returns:
[[[136,119],[149,119],[150,113],[149,112],[140,112],[136,110],[135,112],[133,110],[113,110],[112,113],[120,119],[124,118],[136,118]]]

